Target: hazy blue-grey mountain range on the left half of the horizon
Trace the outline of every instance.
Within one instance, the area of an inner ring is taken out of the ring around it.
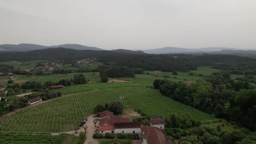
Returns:
[[[33,50],[42,50],[48,48],[57,48],[63,47],[67,49],[74,50],[95,50],[95,51],[103,51],[98,47],[84,46],[78,44],[64,44],[64,45],[54,45],[54,46],[43,46],[43,45],[35,45],[35,44],[19,44],[19,45],[10,45],[4,44],[0,45],[0,51],[33,51]]]

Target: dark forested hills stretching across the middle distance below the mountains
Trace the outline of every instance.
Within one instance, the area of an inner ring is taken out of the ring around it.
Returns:
[[[0,53],[0,61],[34,61],[48,59],[49,61],[75,61],[82,58],[97,58],[97,61],[107,65],[142,68],[145,70],[188,71],[196,70],[200,65],[214,65],[218,69],[254,70],[256,59],[232,55],[149,55],[137,53],[122,53],[111,51],[45,49],[29,52]],[[81,71],[83,71],[81,69]],[[60,73],[57,72],[56,73]]]

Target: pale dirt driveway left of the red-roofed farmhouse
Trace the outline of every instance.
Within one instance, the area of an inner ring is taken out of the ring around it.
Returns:
[[[95,115],[91,115],[88,117],[88,121],[85,123],[87,125],[87,133],[86,133],[86,140],[84,144],[98,144],[99,140],[93,139],[92,136],[94,135],[94,131],[97,129],[99,122],[97,122],[96,127],[94,127],[94,119],[97,119]]]

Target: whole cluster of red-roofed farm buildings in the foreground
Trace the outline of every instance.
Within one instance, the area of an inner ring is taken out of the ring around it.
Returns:
[[[115,116],[113,112],[106,110],[100,113],[98,121],[98,132],[102,134],[133,133],[141,136],[142,144],[172,143],[164,131],[165,121],[159,117],[150,118],[150,125],[144,125],[143,122],[130,122],[128,118]]]

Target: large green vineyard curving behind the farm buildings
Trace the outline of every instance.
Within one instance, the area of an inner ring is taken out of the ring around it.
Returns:
[[[120,95],[125,100],[119,99]],[[215,119],[188,105],[161,95],[146,87],[108,88],[56,98],[0,118],[0,131],[60,132],[71,131],[82,117],[91,115],[97,104],[118,100],[126,109],[139,109],[149,116],[187,113],[199,121]]]

